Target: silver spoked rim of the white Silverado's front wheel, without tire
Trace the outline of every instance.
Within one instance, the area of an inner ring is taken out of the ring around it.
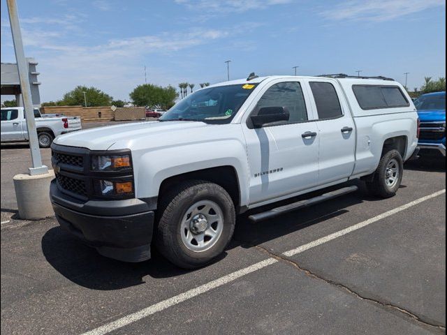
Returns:
[[[214,246],[222,230],[223,212],[217,203],[210,200],[202,200],[189,207],[180,225],[184,245],[196,252]]]

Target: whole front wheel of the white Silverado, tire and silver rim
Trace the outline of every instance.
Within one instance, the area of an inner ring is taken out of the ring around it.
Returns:
[[[156,246],[170,262],[185,269],[217,258],[233,237],[235,207],[221,186],[186,181],[162,197]]]

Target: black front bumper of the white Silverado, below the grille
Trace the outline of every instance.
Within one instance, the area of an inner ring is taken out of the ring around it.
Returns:
[[[50,185],[50,199],[61,227],[98,253],[124,262],[150,258],[154,211],[139,199],[80,202]]]

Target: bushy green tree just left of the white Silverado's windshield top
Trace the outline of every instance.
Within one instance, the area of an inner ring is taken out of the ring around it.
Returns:
[[[129,94],[132,102],[138,106],[160,106],[170,108],[177,98],[177,91],[172,86],[161,87],[153,84],[138,85]]]

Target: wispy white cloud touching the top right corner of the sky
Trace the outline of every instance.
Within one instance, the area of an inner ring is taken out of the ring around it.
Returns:
[[[388,21],[428,8],[446,6],[445,0],[350,0],[320,14],[329,20]]]

